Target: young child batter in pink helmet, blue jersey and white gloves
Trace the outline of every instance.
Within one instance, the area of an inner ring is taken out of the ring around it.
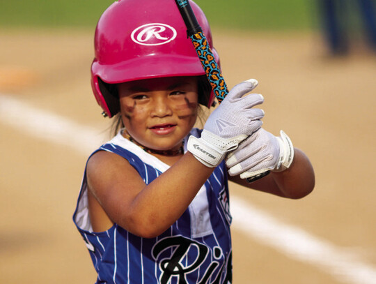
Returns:
[[[205,15],[191,6],[218,60]],[[194,128],[214,96],[185,30],[174,0],[117,1],[97,24],[93,91],[120,122],[88,159],[74,214],[97,283],[231,283],[227,172],[283,197],[313,189],[308,158],[284,133],[260,128],[263,96],[246,95],[256,80],[237,84]]]

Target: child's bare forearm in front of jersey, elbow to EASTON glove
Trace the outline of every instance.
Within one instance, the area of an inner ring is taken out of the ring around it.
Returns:
[[[187,152],[134,198],[125,226],[143,237],[162,234],[184,213],[213,170]]]

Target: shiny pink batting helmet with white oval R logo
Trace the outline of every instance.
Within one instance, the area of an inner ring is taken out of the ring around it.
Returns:
[[[219,62],[205,14],[196,3],[190,3]],[[117,88],[113,84],[157,77],[205,75],[174,0],[116,1],[100,17],[94,44],[91,86],[97,103],[108,117],[120,110]],[[212,92],[210,98],[199,98],[207,107],[213,100]]]

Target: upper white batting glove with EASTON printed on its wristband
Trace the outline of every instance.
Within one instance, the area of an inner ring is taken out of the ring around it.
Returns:
[[[257,84],[257,80],[251,79],[233,87],[210,114],[201,138],[189,137],[188,151],[207,167],[217,167],[228,151],[236,149],[240,142],[262,126],[260,119],[264,117],[264,111],[252,107],[263,103],[263,96],[244,96]]]

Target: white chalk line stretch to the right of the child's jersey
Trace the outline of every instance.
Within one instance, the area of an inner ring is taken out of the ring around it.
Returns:
[[[375,284],[376,268],[347,248],[314,237],[299,227],[281,223],[265,211],[256,209],[240,197],[230,197],[236,230],[281,251],[292,259],[312,264],[336,280],[351,284]]]

